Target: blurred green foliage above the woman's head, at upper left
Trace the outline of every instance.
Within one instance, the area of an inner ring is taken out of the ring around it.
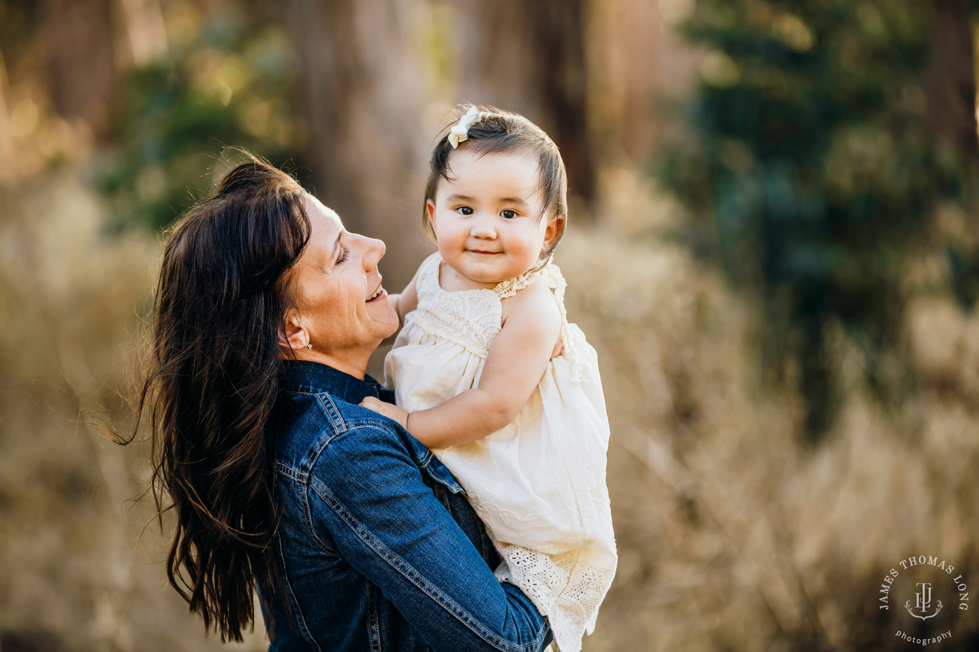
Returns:
[[[207,196],[227,146],[295,164],[302,125],[287,104],[294,67],[285,35],[233,16],[183,17],[191,33],[168,57],[131,71],[116,148],[99,169],[117,226],[163,228]]]

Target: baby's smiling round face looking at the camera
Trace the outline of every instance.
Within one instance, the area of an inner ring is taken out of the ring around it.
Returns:
[[[538,219],[543,197],[536,157],[519,150],[481,156],[460,148],[448,163],[452,180],[443,179],[427,205],[445,263],[485,286],[533,268],[559,230],[554,217]]]

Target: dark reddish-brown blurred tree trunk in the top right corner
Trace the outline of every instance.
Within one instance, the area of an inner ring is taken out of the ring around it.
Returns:
[[[925,73],[927,116],[971,163],[979,162],[975,59],[970,0],[935,0],[931,64]]]

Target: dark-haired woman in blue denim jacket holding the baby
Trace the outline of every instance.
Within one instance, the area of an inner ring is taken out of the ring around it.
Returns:
[[[257,589],[270,650],[540,650],[546,619],[493,578],[451,474],[357,405],[392,398],[365,375],[398,326],[384,251],[257,161],[174,227],[139,404],[170,583],[222,640]]]

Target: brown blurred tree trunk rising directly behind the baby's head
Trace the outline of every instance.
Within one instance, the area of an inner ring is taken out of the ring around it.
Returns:
[[[571,194],[591,201],[583,0],[468,0],[459,9],[460,98],[517,111],[561,149]]]

